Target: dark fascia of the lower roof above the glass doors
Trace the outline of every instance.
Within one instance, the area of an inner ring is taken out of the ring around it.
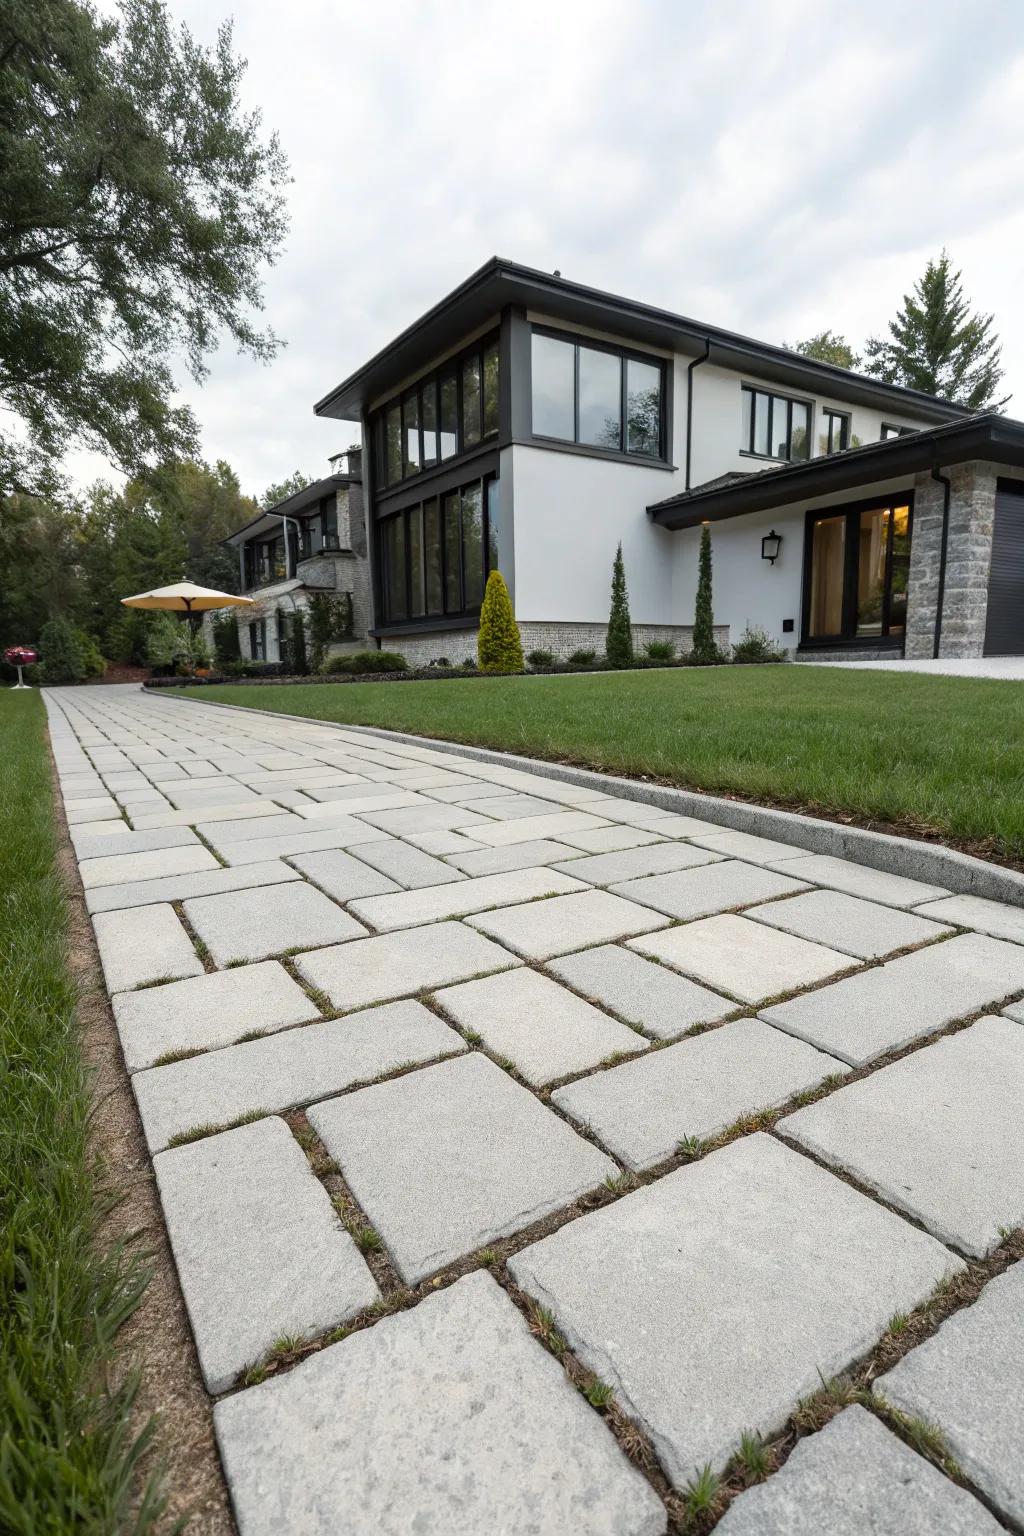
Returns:
[[[703,492],[697,487],[652,502],[648,513],[662,528],[695,528],[702,522],[771,511],[774,507],[870,485],[874,481],[964,464],[969,459],[1024,464],[1024,422],[996,415],[972,416],[906,438],[869,442],[863,449],[809,459],[806,464],[761,470],[731,485],[714,485]]]

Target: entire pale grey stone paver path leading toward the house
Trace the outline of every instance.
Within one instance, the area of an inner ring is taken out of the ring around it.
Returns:
[[[46,702],[243,1536],[1024,1524],[1024,911]]]

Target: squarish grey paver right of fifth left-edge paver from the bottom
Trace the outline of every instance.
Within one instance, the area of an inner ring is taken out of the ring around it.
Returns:
[[[216,965],[264,960],[286,949],[313,949],[365,935],[362,923],[306,882],[201,895],[184,903],[184,915]]]

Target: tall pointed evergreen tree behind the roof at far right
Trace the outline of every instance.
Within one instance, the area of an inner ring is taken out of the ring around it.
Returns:
[[[967,410],[1003,410],[996,399],[1003,369],[992,315],[975,315],[949,253],[929,261],[913,293],[889,321],[887,336],[867,343],[867,372],[887,384],[940,395]]]

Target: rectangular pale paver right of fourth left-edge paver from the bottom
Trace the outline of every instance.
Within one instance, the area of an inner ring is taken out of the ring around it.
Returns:
[[[315,949],[295,963],[333,1008],[348,1009],[508,971],[519,960],[462,923],[431,923]]]

